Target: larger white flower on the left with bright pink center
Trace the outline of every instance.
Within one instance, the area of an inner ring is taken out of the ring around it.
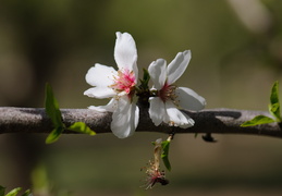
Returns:
[[[99,63],[88,70],[85,78],[94,87],[84,95],[98,99],[112,98],[106,106],[91,106],[89,109],[113,112],[111,130],[119,138],[125,138],[134,134],[139,119],[139,109],[132,100],[138,78],[137,49],[130,34],[117,33],[114,60],[118,71]]]

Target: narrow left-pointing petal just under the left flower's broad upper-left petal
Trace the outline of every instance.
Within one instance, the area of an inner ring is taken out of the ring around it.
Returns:
[[[84,95],[94,97],[97,99],[105,99],[113,97],[117,93],[112,88],[108,87],[93,87],[84,91]]]

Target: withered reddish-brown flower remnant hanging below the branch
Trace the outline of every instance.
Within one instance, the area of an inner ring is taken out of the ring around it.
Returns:
[[[147,167],[147,183],[146,189],[152,188],[156,183],[160,183],[161,185],[169,184],[169,181],[165,179],[164,171],[160,171],[160,156],[162,151],[161,147],[162,139],[157,139],[154,149],[154,161],[149,161],[149,166]]]

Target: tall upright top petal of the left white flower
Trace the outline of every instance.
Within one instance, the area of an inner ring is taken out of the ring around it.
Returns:
[[[137,65],[137,49],[131,34],[117,32],[117,40],[114,47],[114,59],[119,70],[125,69],[134,71],[136,77]]]

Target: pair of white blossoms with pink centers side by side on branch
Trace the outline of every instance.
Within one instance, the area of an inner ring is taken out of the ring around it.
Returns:
[[[114,60],[118,71],[99,63],[88,70],[85,78],[93,87],[84,95],[98,99],[110,98],[108,105],[90,106],[89,109],[112,112],[111,130],[119,138],[125,138],[134,134],[139,121],[139,108],[134,97],[143,96],[137,86],[136,44],[128,33],[117,33]],[[152,86],[148,89],[148,112],[156,126],[161,123],[182,128],[193,126],[194,120],[180,109],[198,111],[206,106],[205,98],[197,93],[175,85],[189,60],[191,51],[185,50],[179,52],[169,64],[164,59],[157,59],[149,64]]]

